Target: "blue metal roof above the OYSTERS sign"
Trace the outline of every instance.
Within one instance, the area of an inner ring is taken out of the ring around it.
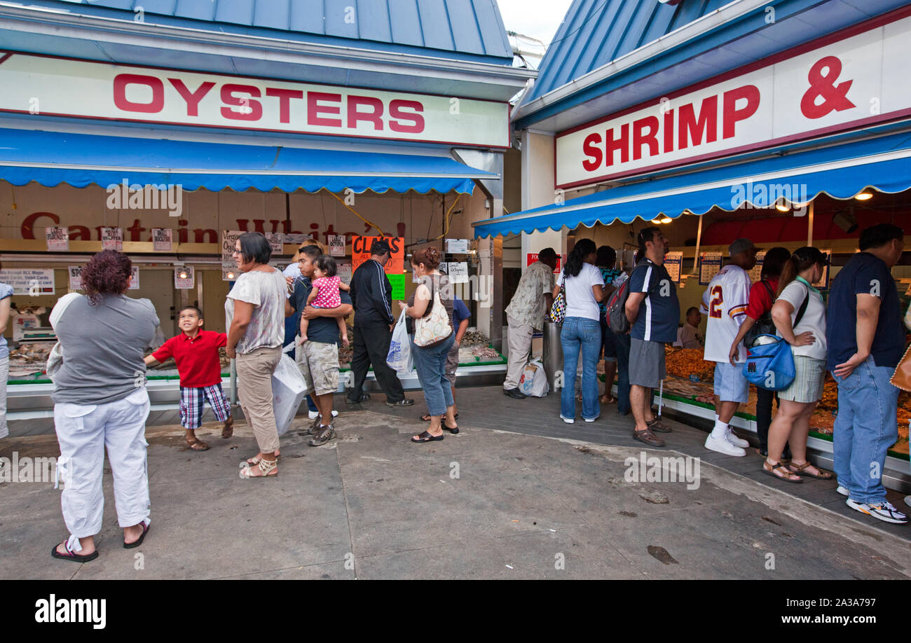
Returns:
[[[385,51],[415,47],[435,56],[478,56],[512,63],[496,0],[24,0],[92,15],[117,15],[146,23],[192,26],[247,35],[343,44]],[[79,5],[74,7],[73,5]],[[354,43],[352,43],[354,45]]]

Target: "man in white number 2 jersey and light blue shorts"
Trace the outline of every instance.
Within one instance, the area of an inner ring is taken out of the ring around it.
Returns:
[[[729,362],[731,344],[737,337],[750,300],[750,275],[756,265],[756,247],[749,239],[738,239],[728,247],[731,262],[716,274],[702,295],[701,311],[708,322],[705,328],[705,360],[715,362],[715,427],[705,440],[705,448],[728,455],[746,455],[750,445],[734,435],[728,423],[737,407],[750,394],[750,383],[742,373],[746,348]]]

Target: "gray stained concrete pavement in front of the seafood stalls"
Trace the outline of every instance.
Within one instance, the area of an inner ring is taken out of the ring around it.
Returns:
[[[100,556],[84,565],[50,556],[67,536],[52,484],[0,484],[0,577],[911,576],[900,535],[707,459],[692,488],[632,475],[625,462],[677,455],[666,450],[480,428],[471,418],[483,409],[465,404],[460,434],[411,444],[426,427],[419,403],[386,413],[379,401],[351,412],[338,402],[338,440],[313,448],[292,429],[274,480],[239,478],[238,463],[256,453],[242,423],[229,440],[210,424],[202,453],[186,449],[179,426],[148,427],[146,541],[120,545],[106,469]],[[0,456],[13,451],[58,453],[54,435],[0,442]]]

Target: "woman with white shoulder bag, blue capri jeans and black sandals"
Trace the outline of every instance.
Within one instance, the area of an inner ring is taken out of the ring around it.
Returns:
[[[458,433],[455,424],[455,402],[446,379],[446,355],[455,342],[452,327],[453,293],[445,275],[437,268],[440,265],[440,251],[435,248],[415,250],[411,258],[412,268],[419,284],[415,291],[415,304],[409,306],[399,302],[402,310],[415,320],[415,337],[412,356],[415,370],[424,388],[430,428],[423,434],[415,435],[416,443],[436,442],[443,439],[443,429]],[[443,415],[446,416],[443,422]]]

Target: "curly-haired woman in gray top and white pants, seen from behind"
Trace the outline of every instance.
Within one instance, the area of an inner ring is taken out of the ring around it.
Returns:
[[[139,546],[148,532],[143,352],[159,318],[148,299],[127,297],[132,268],[125,254],[98,252],[82,270],[86,294],[67,294],[51,311],[63,353],[62,364],[48,368],[60,444],[57,481],[64,481],[60,505],[70,533],[51,550],[55,558],[82,563],[98,556],[106,446],[123,546]]]

